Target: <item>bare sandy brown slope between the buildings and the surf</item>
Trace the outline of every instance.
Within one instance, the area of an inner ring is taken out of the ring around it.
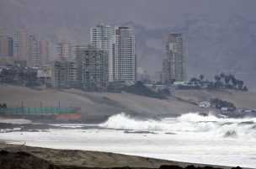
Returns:
[[[256,93],[237,90],[172,90],[168,99],[156,99],[121,92],[83,92],[78,89],[35,90],[29,87],[0,85],[0,101],[8,107],[77,107],[83,116],[103,118],[113,114],[133,114],[141,117],[177,116],[189,112],[208,113],[216,109],[199,108],[196,104],[211,98],[221,98],[237,108],[255,108]]]

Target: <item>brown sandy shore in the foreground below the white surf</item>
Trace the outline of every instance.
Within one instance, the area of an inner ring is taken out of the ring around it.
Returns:
[[[195,167],[211,166],[213,168],[231,169],[232,166],[216,166],[208,164],[196,164],[181,161],[167,161],[155,158],[129,156],[111,152],[102,151],[78,151],[78,150],[61,150],[41,147],[32,147],[27,145],[11,145],[0,143],[0,159],[4,158],[3,154],[8,154],[8,160],[17,162],[14,156],[24,155],[32,158],[33,162],[48,162],[48,166],[56,168],[113,168],[113,167],[130,167],[130,168],[159,168],[160,166],[179,166],[185,168],[193,165]],[[23,159],[26,161],[26,158]],[[46,165],[47,166],[47,165]],[[1,166],[1,168],[5,166]],[[26,167],[25,167],[26,168]],[[29,168],[29,167],[27,167]],[[43,167],[40,167],[43,168]],[[171,168],[171,167],[169,167]],[[235,167],[233,167],[235,168]]]

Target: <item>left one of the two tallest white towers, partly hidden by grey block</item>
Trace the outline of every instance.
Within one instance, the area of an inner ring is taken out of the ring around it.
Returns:
[[[98,50],[105,50],[107,52],[107,59],[109,65],[109,82],[113,82],[114,68],[113,68],[113,52],[112,52],[112,28],[109,25],[99,24],[91,28],[91,45]]]

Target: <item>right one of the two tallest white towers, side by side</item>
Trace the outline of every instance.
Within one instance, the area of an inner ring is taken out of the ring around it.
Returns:
[[[135,37],[129,27],[115,27],[113,36],[114,78],[126,85],[136,82]]]

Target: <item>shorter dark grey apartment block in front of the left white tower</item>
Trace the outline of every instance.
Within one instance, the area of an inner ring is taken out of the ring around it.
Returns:
[[[105,91],[108,82],[108,52],[93,45],[77,50],[78,82],[88,91]]]

